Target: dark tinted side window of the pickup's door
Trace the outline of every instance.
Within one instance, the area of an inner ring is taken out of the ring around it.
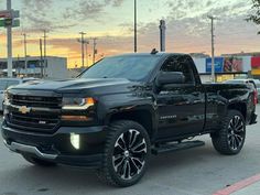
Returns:
[[[181,72],[185,76],[185,84],[194,84],[194,74],[192,69],[192,61],[186,56],[173,56],[166,59],[161,71],[163,72]]]

